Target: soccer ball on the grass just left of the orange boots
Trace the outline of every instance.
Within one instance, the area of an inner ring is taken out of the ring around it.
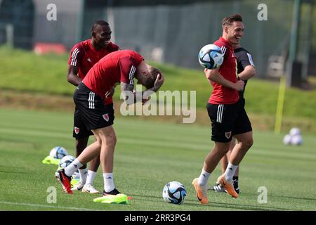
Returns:
[[[178,181],[171,181],[164,186],[162,198],[166,203],[181,204],[185,200],[187,191],[185,186]]]

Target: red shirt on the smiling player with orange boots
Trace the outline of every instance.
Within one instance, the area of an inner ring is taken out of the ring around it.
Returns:
[[[214,42],[215,45],[220,47],[224,53],[223,64],[220,65],[218,72],[225,79],[230,80],[233,83],[237,82],[237,63],[234,53],[234,47],[226,41],[223,37],[220,37]],[[209,98],[209,103],[212,104],[233,104],[239,99],[238,91],[230,89],[221,84],[213,82],[213,91]]]

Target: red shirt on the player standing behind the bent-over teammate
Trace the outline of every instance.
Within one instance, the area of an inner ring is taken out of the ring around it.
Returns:
[[[86,41],[81,41],[74,45],[72,51],[70,52],[68,65],[77,66],[79,68],[79,77],[84,79],[88,71],[98,62],[98,60],[106,56],[108,53],[117,50],[119,50],[119,46],[110,42],[106,48],[101,48],[96,51],[91,43],[91,39],[87,39]],[[112,102],[112,97],[105,99],[106,105]]]

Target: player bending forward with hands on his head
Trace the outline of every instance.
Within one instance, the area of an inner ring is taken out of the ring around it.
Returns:
[[[138,84],[146,87],[141,93],[133,92],[134,77]],[[67,193],[72,193],[70,181],[72,174],[85,163],[100,155],[103,169],[103,195],[117,195],[119,191],[113,181],[114,148],[116,145],[113,122],[103,103],[107,91],[121,84],[122,95],[127,104],[147,99],[164,83],[164,76],[157,68],[145,63],[143,56],[136,51],[115,51],[93,65],[74,92],[74,103],[84,125],[93,131],[96,142],[87,146],[74,162],[65,169],[59,169],[55,176]]]

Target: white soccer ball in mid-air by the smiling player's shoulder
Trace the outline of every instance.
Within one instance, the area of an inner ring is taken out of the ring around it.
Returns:
[[[199,51],[199,64],[206,69],[219,68],[223,60],[224,54],[215,44],[207,44]]]

